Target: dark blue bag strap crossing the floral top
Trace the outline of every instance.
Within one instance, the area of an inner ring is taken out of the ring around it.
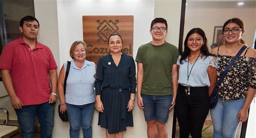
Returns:
[[[220,76],[220,80],[218,81],[217,86],[219,86],[221,84],[221,82],[223,82],[227,72],[230,70],[231,66],[235,63],[235,61],[238,60],[238,58],[240,57],[240,55],[242,54],[242,52],[244,52],[244,50],[246,49],[247,46],[242,46],[242,48],[238,51],[237,55],[235,55],[235,57],[231,60],[230,64],[228,64],[228,66],[226,67],[226,69],[224,70],[223,74]]]

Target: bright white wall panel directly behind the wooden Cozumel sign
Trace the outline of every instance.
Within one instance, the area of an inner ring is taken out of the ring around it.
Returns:
[[[133,15],[133,57],[138,47],[151,40],[150,23],[154,15],[154,1],[57,1],[60,66],[69,58],[69,49],[75,40],[83,40],[82,17],[84,15]],[[146,137],[146,122],[143,111],[136,105],[134,111],[134,127],[128,128],[125,137]],[[105,129],[98,125],[98,112],[93,115],[93,137],[105,137]],[[69,124],[58,118],[58,127],[53,137],[68,137]],[[63,131],[64,130],[64,131]],[[80,133],[82,134],[82,133]],[[81,135],[80,135],[81,136]]]

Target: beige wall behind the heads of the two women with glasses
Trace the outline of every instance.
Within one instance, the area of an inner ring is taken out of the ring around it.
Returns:
[[[256,29],[256,8],[251,9],[186,9],[184,39],[188,31],[200,27],[206,33],[208,46],[213,41],[214,26],[223,26],[231,18],[240,18],[245,24],[245,35],[242,39],[252,46]]]

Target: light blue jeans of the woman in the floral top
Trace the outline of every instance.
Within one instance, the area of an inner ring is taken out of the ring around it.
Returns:
[[[245,99],[223,100],[218,98],[216,107],[211,109],[214,138],[235,137],[240,123],[237,115],[244,103]]]

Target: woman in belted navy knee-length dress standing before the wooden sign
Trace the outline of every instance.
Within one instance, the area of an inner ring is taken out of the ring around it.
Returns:
[[[111,34],[110,54],[100,58],[97,65],[95,108],[106,137],[123,137],[126,127],[133,127],[136,70],[134,59],[122,53],[122,43],[120,34]]]

